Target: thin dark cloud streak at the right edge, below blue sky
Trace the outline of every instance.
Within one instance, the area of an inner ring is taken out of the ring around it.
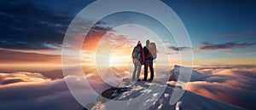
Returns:
[[[202,43],[200,50],[216,50],[216,49],[235,49],[235,48],[247,48],[249,46],[255,45],[255,43],[236,43],[236,42],[227,42],[227,43]]]

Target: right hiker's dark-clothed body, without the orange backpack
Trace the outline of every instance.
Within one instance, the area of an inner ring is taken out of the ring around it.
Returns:
[[[144,63],[144,80],[148,79],[148,67],[150,69],[150,79],[153,80],[154,78],[154,68],[153,68],[153,56],[151,55],[150,51],[148,50],[148,44],[150,43],[149,40],[146,41],[146,46],[143,47],[144,55],[145,55],[145,63]]]

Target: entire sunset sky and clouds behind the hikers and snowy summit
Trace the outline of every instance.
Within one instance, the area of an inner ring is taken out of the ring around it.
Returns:
[[[144,47],[147,40],[157,49],[153,83],[256,109],[255,2],[158,1],[173,13],[143,9],[156,5],[150,1],[140,1],[142,8],[132,2],[134,9],[111,2],[91,9],[94,2],[0,1],[1,110],[83,110],[104,90],[137,81],[131,81],[137,66],[131,54],[138,41]],[[122,10],[99,17],[107,14],[105,7]]]

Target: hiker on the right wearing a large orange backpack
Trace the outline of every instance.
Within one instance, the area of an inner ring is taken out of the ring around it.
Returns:
[[[154,68],[153,68],[153,60],[156,58],[156,47],[155,43],[150,43],[149,40],[146,41],[146,46],[143,47],[144,55],[145,55],[145,63],[144,63],[144,80],[148,78],[148,67],[150,69],[150,81],[154,78]]]

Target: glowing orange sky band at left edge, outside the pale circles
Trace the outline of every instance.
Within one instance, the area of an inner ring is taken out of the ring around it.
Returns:
[[[61,68],[61,55],[27,53],[8,49],[0,49],[0,53],[0,69],[4,71],[45,71]]]

